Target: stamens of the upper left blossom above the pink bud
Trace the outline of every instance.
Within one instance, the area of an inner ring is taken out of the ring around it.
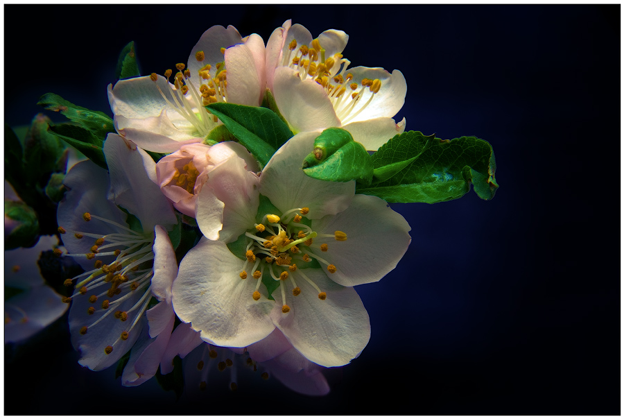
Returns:
[[[225,48],[222,48],[221,52],[225,53]],[[203,62],[203,51],[198,51],[195,58],[198,62]],[[176,64],[175,68],[178,71],[173,77],[173,85],[168,83],[173,101],[169,100],[162,89],[156,85],[164,101],[191,123],[195,131],[193,134],[199,137],[207,137],[218,123],[217,117],[211,115],[205,106],[210,103],[227,102],[225,60],[218,62],[215,67],[214,75],[210,74],[212,65],[206,64],[204,67],[201,67],[198,71],[200,85],[196,86],[191,81],[191,71],[189,69],[184,70],[184,63]],[[173,71],[171,69],[164,72],[167,82],[169,82],[172,74]],[[152,73],[150,78],[156,82],[158,76],[156,73]]]

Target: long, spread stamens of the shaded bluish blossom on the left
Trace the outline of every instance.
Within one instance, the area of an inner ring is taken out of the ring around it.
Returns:
[[[74,287],[77,291],[69,298],[63,297],[64,302],[71,302],[73,298],[88,298],[92,304],[87,314],[93,316],[94,321],[80,329],[80,334],[87,334],[110,314],[114,314],[122,322],[130,320],[130,327],[105,348],[110,354],[120,340],[128,339],[130,332],[137,325],[150,302],[150,281],[154,275],[153,259],[154,235],[131,230],[125,225],[105,219],[95,214],[85,212],[85,221],[97,219],[110,225],[116,230],[110,234],[94,234],[91,232],[69,231],[58,228],[60,234],[73,234],[77,239],[95,239],[89,253],[66,253],[64,256],[86,257],[94,260],[94,268],[76,277],[65,280],[67,287]],[[121,232],[120,232],[121,231]],[[57,249],[58,250],[58,249]],[[60,250],[55,253],[62,255]],[[102,259],[114,261],[105,264]],[[137,300],[127,311],[119,310],[119,306],[126,300]]]

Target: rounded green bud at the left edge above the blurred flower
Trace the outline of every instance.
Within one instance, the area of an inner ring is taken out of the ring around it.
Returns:
[[[10,232],[4,233],[5,250],[29,247],[37,243],[39,239],[39,220],[37,213],[31,207],[21,201],[4,200],[5,225],[7,219],[17,221],[19,224]]]

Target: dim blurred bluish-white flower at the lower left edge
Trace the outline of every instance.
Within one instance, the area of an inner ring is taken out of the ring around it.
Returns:
[[[45,282],[37,260],[58,246],[55,236],[41,236],[32,248],[4,252],[4,343],[33,336],[62,316],[67,305]]]

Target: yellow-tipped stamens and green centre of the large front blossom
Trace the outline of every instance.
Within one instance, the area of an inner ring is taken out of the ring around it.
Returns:
[[[304,216],[308,214],[307,207],[293,208],[278,216],[266,214],[262,222],[254,225],[254,230],[245,232],[247,244],[245,247],[246,261],[243,262],[240,277],[247,279],[248,272],[256,280],[256,287],[252,293],[254,300],[259,300],[261,282],[267,285],[269,294],[279,287],[281,291],[282,313],[291,311],[286,304],[286,283],[292,285],[293,296],[301,294],[297,281],[306,281],[318,292],[318,298],[325,300],[327,293],[321,291],[317,284],[303,271],[297,268],[297,263],[307,264],[315,259],[319,264],[327,267],[329,273],[336,272],[336,266],[328,262],[320,253],[327,252],[329,246],[322,243],[322,239],[333,237],[345,241],[347,234],[336,231],[334,234],[323,234],[312,230],[305,223]],[[318,240],[321,239],[321,240]],[[317,243],[321,241],[321,243]]]

